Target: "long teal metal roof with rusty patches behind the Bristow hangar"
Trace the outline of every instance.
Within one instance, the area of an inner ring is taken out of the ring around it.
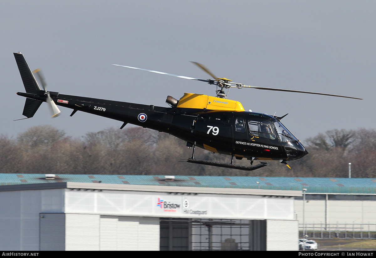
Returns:
[[[288,178],[252,176],[175,176],[173,181],[164,175],[70,175],[0,174],[0,185],[80,182],[128,185],[165,185],[181,187],[244,188],[267,190],[307,189],[307,193],[376,194],[374,178]],[[257,184],[258,182],[259,184]]]

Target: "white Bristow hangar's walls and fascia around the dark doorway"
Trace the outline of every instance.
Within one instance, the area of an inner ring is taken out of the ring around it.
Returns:
[[[264,220],[267,228],[253,241],[263,235],[268,250],[280,250],[274,239],[287,232],[283,248],[297,250],[299,194],[70,182],[2,186],[0,249],[159,250],[160,218],[181,218]]]

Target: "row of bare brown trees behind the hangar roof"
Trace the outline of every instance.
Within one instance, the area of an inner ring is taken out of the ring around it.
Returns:
[[[354,177],[376,177],[376,131],[330,130],[306,140],[309,155],[255,171],[238,171],[178,162],[192,155],[185,142],[141,127],[88,132],[82,139],[67,137],[52,126],[27,129],[15,139],[0,136],[1,173],[312,176],[346,177],[352,162]],[[196,148],[196,158],[229,162],[230,157]],[[249,160],[235,160],[249,165]]]

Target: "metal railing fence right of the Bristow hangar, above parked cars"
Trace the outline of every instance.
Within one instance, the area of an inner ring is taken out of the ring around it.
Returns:
[[[375,224],[299,224],[299,238],[376,238]],[[371,230],[373,229],[373,230]]]

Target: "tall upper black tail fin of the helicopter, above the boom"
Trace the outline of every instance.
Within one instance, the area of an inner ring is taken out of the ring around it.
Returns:
[[[38,91],[41,90],[41,88],[39,87],[38,82],[36,82],[34,74],[27,64],[24,55],[19,52],[13,54],[17,62],[18,70],[20,70],[21,79],[24,84],[26,93],[37,94]]]

